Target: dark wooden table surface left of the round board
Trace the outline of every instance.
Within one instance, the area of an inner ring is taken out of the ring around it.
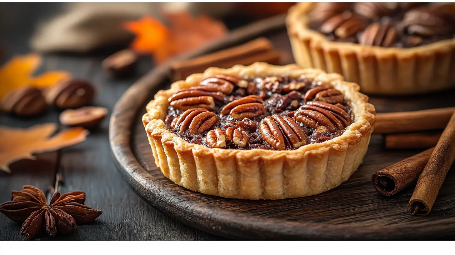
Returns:
[[[6,50],[0,63],[11,56],[29,53],[28,40],[37,22],[60,9],[61,5],[56,4],[0,4],[0,46]],[[121,94],[152,66],[150,58],[144,58],[135,76],[116,80],[101,70],[101,60],[107,54],[46,55],[38,73],[67,70],[75,77],[89,79],[98,91],[94,105],[111,112]],[[27,128],[37,123],[58,123],[58,115],[57,110],[50,110],[42,116],[25,119],[2,113],[0,125]],[[220,240],[158,212],[128,187],[111,158],[108,123],[109,118],[106,118],[101,128],[91,132],[83,143],[59,153],[41,154],[36,161],[14,163],[10,174],[0,171],[0,203],[10,200],[11,190],[20,190],[23,185],[48,189],[55,182],[57,170],[61,170],[65,179],[59,189],[61,193],[83,190],[87,195],[86,204],[102,210],[103,214],[93,224],[78,226],[73,234],[53,240]],[[25,240],[20,235],[20,224],[3,214],[0,214],[0,240]]]

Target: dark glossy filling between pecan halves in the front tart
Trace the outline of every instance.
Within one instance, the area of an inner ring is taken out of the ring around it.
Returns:
[[[223,80],[225,82],[225,80]],[[265,112],[261,114],[260,116],[256,117],[250,117],[249,119],[251,122],[243,122],[242,119],[234,119],[230,114],[222,114],[222,108],[226,106],[229,102],[233,102],[234,100],[243,98],[245,96],[248,96],[247,89],[243,87],[238,87],[234,86],[233,91],[229,95],[222,95],[222,100],[214,100],[215,102],[215,107],[213,110],[210,110],[210,112],[215,113],[219,119],[217,122],[208,130],[205,130],[204,132],[197,132],[195,134],[190,134],[188,130],[184,130],[181,132],[179,130],[181,125],[178,125],[177,127],[174,126],[173,122],[176,122],[179,116],[182,115],[183,112],[186,111],[186,109],[177,109],[175,107],[172,107],[171,105],[168,107],[168,112],[167,116],[165,117],[165,123],[169,127],[170,130],[172,130],[174,133],[177,134],[180,138],[183,138],[185,141],[189,143],[196,143],[196,144],[202,144],[204,146],[209,146],[207,144],[207,132],[210,130],[214,130],[216,128],[221,128],[222,130],[226,130],[229,127],[241,127],[244,128],[245,131],[248,133],[248,143],[240,147],[237,144],[234,144],[232,141],[226,141],[226,146],[223,148],[233,148],[233,149],[253,149],[253,148],[263,148],[263,149],[276,149],[271,146],[266,140],[263,139],[263,136],[261,135],[260,131],[260,122],[263,120],[265,117],[271,116],[273,114],[278,114],[280,116],[286,116],[286,117],[294,117],[294,113],[296,110],[298,110],[299,107],[303,106],[306,104],[305,100],[305,94],[308,92],[308,90],[313,89],[315,87],[321,86],[322,84],[317,83],[317,82],[312,82],[307,79],[293,79],[289,77],[265,77],[265,78],[255,78],[253,80],[248,81],[251,85],[251,83],[254,83],[254,93],[250,93],[253,95],[258,95],[263,98],[263,107],[265,108]],[[301,86],[304,86],[298,90],[289,90],[286,89],[286,87],[289,84],[301,84]],[[235,84],[235,83],[232,83]],[[272,84],[272,86],[271,86]],[[326,85],[327,86],[327,85]],[[250,91],[251,92],[251,91]],[[337,91],[339,92],[339,91]],[[291,95],[291,96],[289,96]],[[291,99],[287,97],[292,97]],[[343,96],[342,96],[343,97]],[[343,110],[349,115],[350,121],[352,121],[353,117],[351,115],[351,108],[349,107],[348,102],[346,100],[341,99],[342,101],[340,103],[334,103],[334,105],[337,105],[340,108],[343,108]],[[314,101],[314,99],[310,100]],[[309,102],[309,101],[308,101]],[[240,123],[242,122],[242,123]],[[302,129],[303,133],[306,134],[307,141],[305,144],[311,144],[311,143],[321,143],[324,141],[327,141],[329,139],[336,138],[343,134],[345,127],[344,128],[336,128],[336,130],[332,130],[330,132],[329,130],[325,128],[319,128],[316,130],[316,128],[308,127],[307,125],[303,124],[302,122],[296,121],[298,126]],[[350,123],[349,123],[350,124]],[[322,125],[319,125],[322,126]],[[282,130],[281,127],[279,127],[281,132],[285,134],[285,131]],[[324,130],[325,129],[325,130]],[[286,150],[293,150],[296,149],[294,148],[290,141],[284,136],[284,142],[285,142],[285,148]]]

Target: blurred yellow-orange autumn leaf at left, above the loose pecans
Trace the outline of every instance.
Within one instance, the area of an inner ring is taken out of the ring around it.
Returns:
[[[22,86],[51,87],[71,74],[66,71],[47,71],[39,76],[32,74],[41,64],[37,54],[15,56],[0,68],[0,99],[11,90]]]

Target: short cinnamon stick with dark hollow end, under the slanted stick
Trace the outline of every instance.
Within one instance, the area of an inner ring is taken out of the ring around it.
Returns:
[[[379,194],[391,196],[415,183],[425,168],[428,159],[430,159],[433,150],[434,148],[430,148],[373,173],[371,182],[374,189]]]

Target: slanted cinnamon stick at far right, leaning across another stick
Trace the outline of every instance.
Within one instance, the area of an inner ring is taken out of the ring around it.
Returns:
[[[444,182],[449,168],[455,160],[455,113],[442,132],[435,150],[420,174],[414,193],[409,201],[409,213],[427,215],[430,213],[436,197]]]

